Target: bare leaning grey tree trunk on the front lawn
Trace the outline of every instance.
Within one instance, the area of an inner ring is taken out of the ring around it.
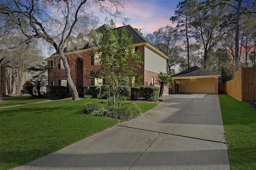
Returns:
[[[67,58],[65,57],[64,55],[64,52],[63,50],[60,50],[60,59],[63,61],[63,65],[64,65],[64,68],[65,68],[65,77],[68,81],[68,85],[71,89],[71,93],[72,93],[72,100],[76,101],[76,100],[80,100],[79,99],[79,96],[78,96],[78,92],[76,90],[76,86],[71,78],[71,75],[70,75],[70,67],[68,65],[68,60]]]

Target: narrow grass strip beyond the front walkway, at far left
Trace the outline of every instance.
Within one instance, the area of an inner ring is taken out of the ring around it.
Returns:
[[[10,97],[10,98],[4,98],[3,102],[0,103],[0,107],[13,106],[13,105],[19,105],[19,104],[31,104],[36,102],[44,102],[48,100],[49,99],[33,98],[30,96]]]

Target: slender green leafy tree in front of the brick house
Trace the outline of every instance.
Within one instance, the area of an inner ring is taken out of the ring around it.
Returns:
[[[142,53],[135,51],[132,43],[133,37],[128,36],[126,27],[122,27],[119,33],[115,28],[111,20],[110,24],[104,25],[102,36],[94,37],[94,43],[99,48],[97,53],[102,66],[100,75],[111,85],[113,104],[118,86],[122,82],[128,83],[129,77],[134,75],[134,70],[138,70],[142,64]]]

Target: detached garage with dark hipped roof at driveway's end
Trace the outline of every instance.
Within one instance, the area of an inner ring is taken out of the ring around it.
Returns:
[[[220,74],[199,68],[191,67],[172,76],[172,94],[176,93],[204,93],[218,94],[218,78]]]

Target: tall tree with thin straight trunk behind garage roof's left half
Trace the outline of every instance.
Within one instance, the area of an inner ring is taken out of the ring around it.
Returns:
[[[172,23],[177,23],[177,28],[180,30],[182,35],[186,36],[186,43],[187,47],[189,47],[189,32],[190,32],[190,25],[189,25],[189,17],[191,9],[195,8],[197,4],[197,0],[184,0],[179,2],[177,5],[178,10],[174,12],[175,16],[170,18]],[[187,48],[187,59],[188,59],[188,68],[190,67],[189,63],[189,48]]]

